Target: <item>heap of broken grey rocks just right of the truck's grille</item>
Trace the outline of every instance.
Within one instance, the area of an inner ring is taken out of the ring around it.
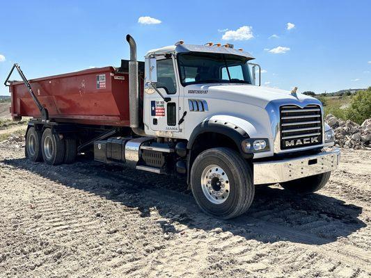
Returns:
[[[350,120],[344,121],[329,114],[326,116],[325,121],[335,132],[336,147],[344,147],[346,149],[370,147],[371,118],[359,125]]]

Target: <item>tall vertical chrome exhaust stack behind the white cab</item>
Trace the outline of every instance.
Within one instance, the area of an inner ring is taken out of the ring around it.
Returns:
[[[139,128],[139,77],[138,61],[136,60],[136,43],[131,35],[126,35],[130,45],[129,60],[129,117],[132,131],[139,136],[145,136],[143,129]]]

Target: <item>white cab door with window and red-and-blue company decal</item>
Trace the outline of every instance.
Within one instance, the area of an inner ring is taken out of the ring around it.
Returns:
[[[150,108],[150,127],[153,131],[179,132],[179,88],[175,78],[175,60],[159,58],[157,60],[157,90],[170,98],[166,102],[158,92],[146,95],[147,108]],[[176,137],[176,136],[175,136]]]

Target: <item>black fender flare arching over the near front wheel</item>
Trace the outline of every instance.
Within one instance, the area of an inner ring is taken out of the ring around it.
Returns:
[[[225,122],[223,120],[205,120],[203,122],[200,122],[200,124],[195,127],[194,131],[192,131],[191,136],[189,137],[187,149],[191,150],[196,138],[200,134],[207,132],[219,133],[224,136],[228,136],[230,139],[233,140],[233,142],[235,142],[240,154],[242,154],[244,158],[253,157],[253,154],[246,154],[242,150],[241,142],[245,139],[250,138],[250,136],[248,136],[248,133],[241,127],[230,122]]]

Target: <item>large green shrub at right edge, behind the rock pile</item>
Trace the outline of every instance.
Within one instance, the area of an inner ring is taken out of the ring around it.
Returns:
[[[371,87],[367,90],[356,92],[350,101],[346,117],[357,124],[371,117]]]

